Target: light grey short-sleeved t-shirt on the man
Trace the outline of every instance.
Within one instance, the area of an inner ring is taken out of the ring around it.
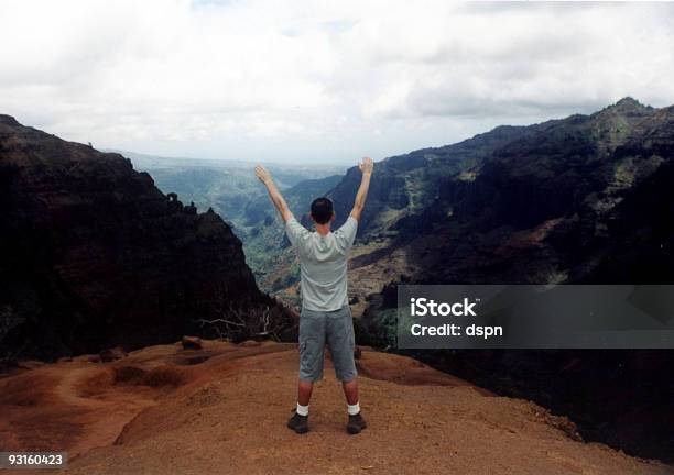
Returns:
[[[300,256],[302,307],[315,311],[339,310],[347,297],[347,258],[358,221],[349,217],[335,232],[311,232],[292,218],[285,233]]]

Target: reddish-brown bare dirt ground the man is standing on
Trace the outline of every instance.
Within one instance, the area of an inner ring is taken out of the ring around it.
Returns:
[[[539,406],[414,360],[365,350],[358,364],[369,428],[355,437],[329,367],[312,400],[312,431],[285,428],[296,345],[205,342],[0,379],[0,446],[65,450],[67,473],[87,475],[672,473],[579,442],[572,424]]]

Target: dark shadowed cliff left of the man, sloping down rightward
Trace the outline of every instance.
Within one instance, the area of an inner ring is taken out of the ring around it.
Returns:
[[[198,319],[244,319],[273,305],[220,217],[166,197],[121,155],[0,115],[6,352],[134,347],[197,332]]]

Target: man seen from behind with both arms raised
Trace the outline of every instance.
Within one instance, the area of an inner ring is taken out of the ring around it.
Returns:
[[[308,432],[308,405],[314,382],[323,378],[326,343],[330,350],[335,375],[341,380],[347,400],[347,431],[357,434],[366,428],[358,402],[354,319],[347,297],[347,259],[368,196],[374,164],[372,158],[366,157],[358,167],[362,178],[354,209],[335,232],[330,231],[335,212],[329,199],[317,198],[312,202],[311,217],[315,232],[311,232],[290,211],[269,172],[262,166],[256,167],[256,175],[267,187],[272,202],[283,217],[287,239],[300,257],[300,383],[297,409],[287,421],[287,427],[296,433]]]

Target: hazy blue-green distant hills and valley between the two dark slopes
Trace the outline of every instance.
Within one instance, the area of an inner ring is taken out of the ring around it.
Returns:
[[[264,290],[298,278],[296,272],[290,278],[276,275],[278,268],[287,268],[279,266],[279,259],[285,263],[292,256],[286,252],[281,220],[254,176],[253,163],[119,153],[131,159],[137,169],[150,173],[162,191],[175,192],[185,203],[194,202],[199,210],[211,208],[220,214],[242,241],[247,263]],[[297,216],[306,212],[313,198],[333,188],[346,169],[322,163],[264,165]]]

